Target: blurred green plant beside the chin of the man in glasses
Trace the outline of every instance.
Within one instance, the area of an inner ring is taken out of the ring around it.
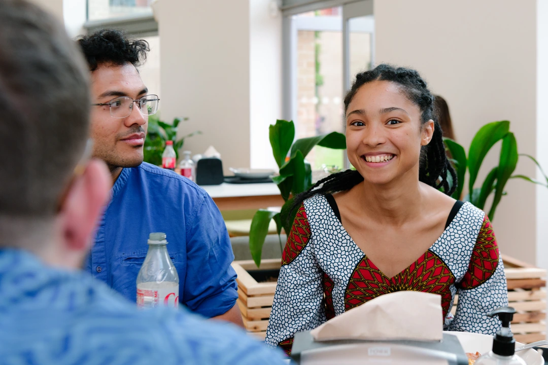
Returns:
[[[189,120],[189,118],[175,118],[172,124],[168,124],[159,120],[157,114],[150,115],[149,130],[146,134],[143,151],[145,162],[157,166],[162,165],[162,153],[164,152],[165,141],[173,141],[175,154],[179,158],[179,150],[185,143],[185,138],[202,134],[201,131],[196,131],[177,139],[177,128],[181,120]]]

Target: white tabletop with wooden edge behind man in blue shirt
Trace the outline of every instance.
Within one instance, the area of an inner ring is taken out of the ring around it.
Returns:
[[[213,198],[219,210],[260,209],[282,206],[284,200],[275,183],[201,186]]]

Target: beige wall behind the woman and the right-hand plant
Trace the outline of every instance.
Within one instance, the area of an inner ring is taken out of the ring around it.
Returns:
[[[374,16],[376,63],[418,69],[448,101],[466,149],[483,124],[507,119],[518,151],[537,153],[535,2],[375,0]],[[497,157],[488,155],[480,178]],[[535,176],[524,159],[516,172]],[[511,180],[507,192],[493,222],[501,251],[535,263],[536,189]]]

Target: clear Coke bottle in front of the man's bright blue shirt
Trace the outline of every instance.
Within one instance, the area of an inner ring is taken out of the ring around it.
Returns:
[[[178,308],[179,275],[169,257],[165,233],[149,235],[149,252],[137,275],[137,307]]]

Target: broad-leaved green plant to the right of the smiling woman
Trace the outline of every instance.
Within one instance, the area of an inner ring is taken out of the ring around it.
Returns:
[[[483,159],[495,143],[499,141],[502,141],[499,164],[489,171],[487,177],[484,179],[483,183],[481,183],[481,186],[475,187]],[[491,221],[493,221],[495,217],[495,210],[499,205],[500,199],[506,194],[504,187],[509,179],[522,178],[526,181],[548,187],[548,178],[546,178],[546,175],[538,162],[530,155],[518,154],[516,138],[513,133],[510,132],[510,122],[507,120],[494,121],[493,123],[488,123],[480,128],[470,144],[468,157],[466,157],[464,147],[459,143],[448,138],[446,138],[444,142],[452,156],[452,163],[455,167],[458,182],[457,188],[453,193],[453,198],[460,199],[464,189],[466,170],[468,170],[469,193],[466,194],[464,200],[470,201],[473,205],[485,211]],[[545,182],[536,181],[535,179],[524,175],[512,175],[514,170],[516,170],[516,165],[520,156],[533,160],[535,165],[539,167],[541,173],[544,175]],[[493,202],[487,211],[486,202],[488,196],[491,194],[494,194]]]

